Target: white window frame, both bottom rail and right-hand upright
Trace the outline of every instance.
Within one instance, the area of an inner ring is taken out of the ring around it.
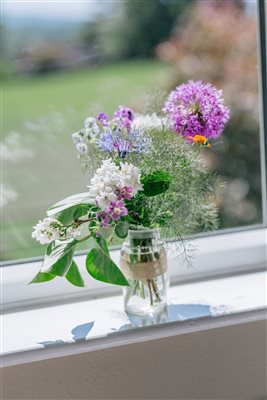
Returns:
[[[197,235],[193,244],[196,248],[193,268],[179,267],[179,260],[170,255],[169,270],[172,283],[184,283],[197,279],[217,278],[222,275],[246,273],[266,269],[267,261],[267,75],[266,75],[266,9],[265,2],[257,0],[258,6],[258,54],[259,54],[259,97],[260,97],[260,147],[262,176],[263,223],[244,228],[220,230]],[[175,245],[175,244],[171,244]],[[171,254],[171,252],[170,252]],[[118,261],[119,250],[111,256]],[[93,298],[116,294],[118,286],[108,285],[90,278],[85,270],[85,255],[77,254],[75,261],[86,280],[86,288],[76,288],[66,279],[56,278],[52,282],[27,283],[40,269],[41,258],[2,263],[0,268],[2,311],[18,308],[54,304],[57,301]]]

